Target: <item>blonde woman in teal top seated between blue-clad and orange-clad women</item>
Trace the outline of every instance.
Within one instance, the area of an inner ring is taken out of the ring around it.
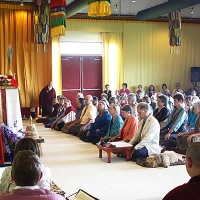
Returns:
[[[110,104],[109,112],[112,115],[111,124],[105,137],[100,139],[104,142],[108,142],[112,137],[118,135],[124,123],[120,116],[120,106],[118,104]]]

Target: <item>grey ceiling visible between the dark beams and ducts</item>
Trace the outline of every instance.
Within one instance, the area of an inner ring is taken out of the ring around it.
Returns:
[[[50,0],[49,0],[50,1]],[[66,0],[67,5],[72,3],[74,0]],[[20,0],[6,0],[6,2],[19,2]],[[24,4],[32,3],[33,0],[23,0]],[[117,16],[136,16],[137,13],[141,10],[148,9],[150,7],[157,6],[167,2],[167,0],[136,0],[136,2],[132,2],[132,0],[111,0],[111,9],[112,15]],[[191,13],[193,8],[193,12]],[[87,13],[87,7],[83,10],[80,10],[78,13]],[[167,16],[167,15],[164,15]],[[200,4],[194,5],[192,7],[185,8],[181,10],[182,18],[190,18],[190,19],[200,19]],[[162,16],[159,16],[162,17]]]

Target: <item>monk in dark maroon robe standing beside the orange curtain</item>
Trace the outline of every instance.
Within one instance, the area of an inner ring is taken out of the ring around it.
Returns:
[[[50,115],[52,112],[52,100],[56,98],[56,91],[50,82],[44,87],[39,95],[39,106],[42,109],[42,117]]]

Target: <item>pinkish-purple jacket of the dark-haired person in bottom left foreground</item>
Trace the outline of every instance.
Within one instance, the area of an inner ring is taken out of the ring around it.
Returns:
[[[0,200],[65,200],[64,197],[46,189],[14,189],[0,195]]]

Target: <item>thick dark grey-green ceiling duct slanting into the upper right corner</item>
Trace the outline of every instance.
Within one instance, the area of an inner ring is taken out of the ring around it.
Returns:
[[[149,20],[156,17],[200,4],[200,0],[170,0],[160,5],[142,10],[137,13],[138,20]]]

